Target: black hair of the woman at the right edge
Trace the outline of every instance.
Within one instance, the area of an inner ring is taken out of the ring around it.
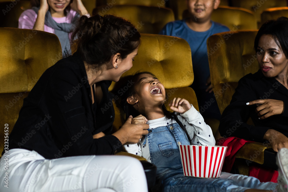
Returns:
[[[270,20],[264,23],[254,41],[254,49],[257,50],[259,39],[262,35],[272,35],[276,44],[281,47],[286,58],[288,58],[288,18],[280,17],[276,20]]]

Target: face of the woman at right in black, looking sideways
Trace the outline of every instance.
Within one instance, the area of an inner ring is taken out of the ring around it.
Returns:
[[[277,78],[287,75],[288,59],[272,35],[260,37],[256,52],[260,69],[265,77]]]

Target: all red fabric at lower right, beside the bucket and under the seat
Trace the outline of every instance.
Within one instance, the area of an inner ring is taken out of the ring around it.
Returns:
[[[216,140],[216,145],[227,146],[225,161],[222,168],[223,172],[230,173],[235,161],[236,153],[247,142],[254,142],[254,141],[248,141],[237,137],[220,138]],[[249,176],[258,178],[260,182],[272,181],[274,183],[277,183],[278,171],[275,171],[270,168],[263,168],[256,165],[250,165]]]

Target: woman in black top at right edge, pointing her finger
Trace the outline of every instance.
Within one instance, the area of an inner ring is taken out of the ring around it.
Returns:
[[[288,18],[268,21],[254,43],[260,70],[239,80],[219,125],[221,136],[288,148]],[[253,125],[246,123],[251,117]]]

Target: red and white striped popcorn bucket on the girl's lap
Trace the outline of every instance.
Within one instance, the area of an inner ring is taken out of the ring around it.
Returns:
[[[227,147],[179,145],[185,176],[220,177]]]

